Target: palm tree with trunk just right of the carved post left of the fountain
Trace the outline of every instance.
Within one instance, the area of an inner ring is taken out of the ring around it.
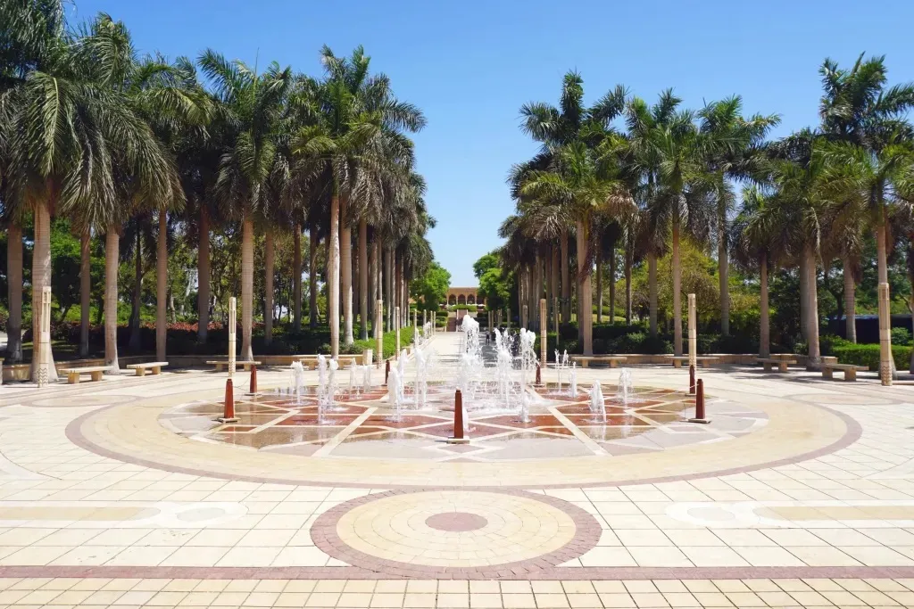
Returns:
[[[229,62],[213,50],[199,58],[219,103],[231,115],[232,131],[219,160],[213,192],[241,223],[241,360],[253,359],[254,217],[268,205],[268,181],[277,158],[284,104],[292,69],[276,62],[259,74],[244,62]]]

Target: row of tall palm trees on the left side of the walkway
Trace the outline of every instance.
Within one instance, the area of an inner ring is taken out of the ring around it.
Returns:
[[[361,47],[348,58],[324,47],[321,58],[324,75],[314,79],[275,62],[261,71],[213,50],[196,62],[141,57],[127,28],[110,16],[100,14],[69,29],[62,0],[0,3],[0,203],[11,237],[11,358],[22,354],[22,282],[12,279],[22,276],[21,226],[29,214],[35,226],[33,336],[40,324],[35,299],[49,285],[51,272],[50,220],[66,217],[83,244],[81,347],[86,351],[89,243],[93,235],[105,236],[105,361],[114,367],[121,237],[132,222],[157,224],[160,360],[165,358],[167,259],[175,223],[184,223],[184,233],[197,240],[200,340],[207,340],[211,306],[209,237],[228,225],[240,226],[241,233],[241,359],[253,357],[258,232],[265,248],[267,344],[277,232],[291,232],[295,239],[293,325],[302,326],[305,227],[313,326],[317,248],[327,248],[332,355],[340,349],[341,319],[344,344],[355,340],[356,316],[359,334],[367,338],[378,299],[387,303],[389,330],[394,307],[408,307],[409,279],[431,260],[425,234],[434,220],[425,207],[425,184],[415,172],[409,139],[425,119],[394,96],[385,75],[370,72],[370,58]],[[357,257],[352,255],[354,228]],[[138,275],[141,244],[137,237]],[[407,316],[402,317],[405,325]],[[33,370],[44,355],[37,349],[36,342]]]

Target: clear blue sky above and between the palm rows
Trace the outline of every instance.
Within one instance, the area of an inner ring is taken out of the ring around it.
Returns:
[[[616,83],[654,100],[672,87],[689,107],[739,93],[748,112],[781,114],[776,135],[817,121],[816,69],[866,51],[887,55],[892,82],[914,80],[914,3],[883,0],[704,2],[308,2],[75,0],[76,19],[106,11],[143,51],[275,59],[320,74],[318,50],[364,45],[372,68],[425,112],[417,137],[429,184],[435,256],[452,285],[474,285],[473,261],[499,244],[513,204],[512,163],[536,151],[518,130],[530,100],[555,103],[578,69],[587,101]]]

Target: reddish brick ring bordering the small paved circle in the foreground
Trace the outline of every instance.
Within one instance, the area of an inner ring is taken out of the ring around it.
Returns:
[[[537,558],[527,561],[505,562],[491,567],[438,567],[388,561],[386,559],[378,558],[377,556],[371,556],[370,554],[358,551],[349,546],[336,534],[337,523],[352,509],[386,497],[412,495],[432,490],[440,490],[440,488],[387,490],[382,493],[374,493],[344,501],[343,503],[328,509],[321,514],[317,520],[314,520],[314,524],[311,527],[311,537],[314,540],[314,545],[337,560],[347,562],[369,572],[377,572],[385,575],[426,579],[441,577],[442,575],[449,575],[452,577],[473,576],[473,578],[478,579],[497,579],[505,577],[522,578],[530,573],[557,567],[562,562],[578,558],[581,554],[592,550],[596,547],[597,542],[600,541],[600,523],[583,509],[580,509],[578,506],[569,503],[564,499],[514,489],[474,489],[470,492],[498,493],[501,495],[523,497],[525,499],[546,503],[547,505],[568,514],[569,518],[574,521],[575,533],[571,541],[556,551],[542,554],[537,556]]]

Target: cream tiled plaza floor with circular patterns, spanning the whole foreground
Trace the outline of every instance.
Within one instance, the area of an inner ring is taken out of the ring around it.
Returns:
[[[625,404],[618,369],[549,369],[452,445],[459,335],[430,348],[400,415],[381,370],[320,414],[236,373],[225,425],[226,373],[4,385],[0,607],[914,605],[914,388],[711,368],[697,425],[685,369]]]

